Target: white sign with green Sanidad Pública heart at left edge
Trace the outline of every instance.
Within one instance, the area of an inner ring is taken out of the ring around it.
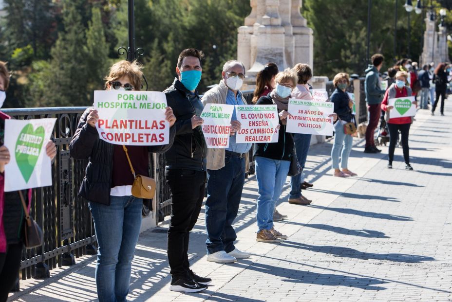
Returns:
[[[57,119],[5,120],[5,146],[11,154],[5,165],[5,192],[52,185],[46,145]]]

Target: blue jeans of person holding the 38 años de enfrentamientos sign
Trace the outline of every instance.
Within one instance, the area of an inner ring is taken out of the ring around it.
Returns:
[[[297,159],[301,165],[301,173],[296,176],[292,176],[290,179],[290,195],[289,198],[301,197],[301,181],[304,180],[304,164],[308,157],[309,145],[311,144],[311,134],[294,134],[295,150],[297,151]]]

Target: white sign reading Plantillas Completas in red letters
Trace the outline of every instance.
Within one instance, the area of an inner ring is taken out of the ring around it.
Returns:
[[[159,91],[94,91],[99,138],[117,145],[150,146],[169,143],[165,119],[167,99]]]

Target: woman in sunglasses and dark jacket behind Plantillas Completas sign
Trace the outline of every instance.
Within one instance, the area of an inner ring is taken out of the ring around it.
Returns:
[[[119,61],[110,68],[105,88],[140,90],[142,76],[141,65],[136,61]],[[90,160],[79,195],[89,201],[99,245],[95,272],[99,302],[125,302],[129,293],[143,207],[143,199],[132,195],[132,184],[138,177],[149,177],[150,152],[166,152],[172,145],[176,118],[170,107],[165,116],[170,127],[169,144],[125,147],[99,138],[99,115],[90,107],[81,116],[70,143],[73,158]]]

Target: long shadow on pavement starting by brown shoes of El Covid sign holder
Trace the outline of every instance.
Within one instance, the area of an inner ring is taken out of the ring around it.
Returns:
[[[282,244],[285,247],[291,247],[296,249],[306,249],[317,253],[332,254],[336,257],[344,258],[356,258],[356,259],[375,259],[375,260],[388,260],[394,262],[404,262],[404,263],[421,263],[423,261],[436,261],[433,257],[418,256],[410,254],[398,254],[398,253],[388,253],[388,254],[376,254],[362,252],[357,249],[335,247],[335,246],[312,246],[304,243],[298,243],[294,241],[285,240]]]

